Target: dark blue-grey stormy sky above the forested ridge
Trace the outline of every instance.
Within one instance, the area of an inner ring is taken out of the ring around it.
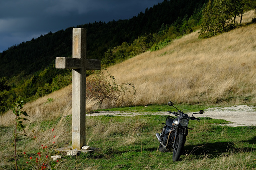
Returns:
[[[130,19],[163,0],[0,0],[0,52],[51,32]]]

